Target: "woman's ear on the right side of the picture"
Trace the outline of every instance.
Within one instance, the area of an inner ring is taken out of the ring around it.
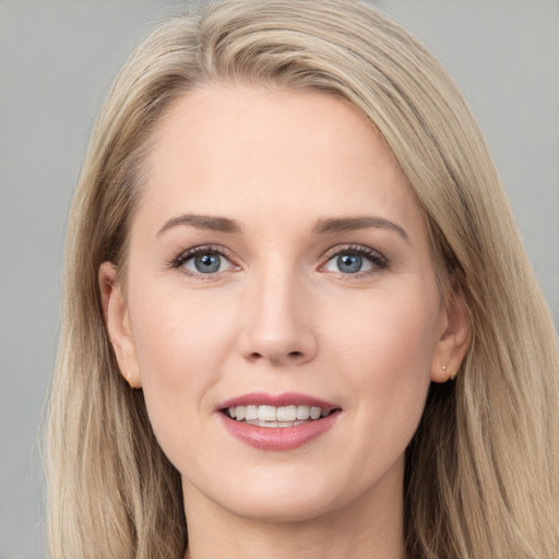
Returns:
[[[447,382],[456,374],[472,341],[472,320],[455,280],[444,297],[439,336],[431,362],[431,380]]]

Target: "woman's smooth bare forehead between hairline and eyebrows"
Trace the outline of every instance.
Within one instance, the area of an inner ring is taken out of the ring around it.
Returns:
[[[295,219],[365,211],[409,221],[419,211],[383,138],[332,95],[207,86],[176,100],[153,140],[141,205],[159,221],[179,212]]]

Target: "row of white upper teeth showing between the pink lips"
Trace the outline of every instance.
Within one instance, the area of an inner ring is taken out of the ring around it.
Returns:
[[[317,406],[234,406],[228,408],[231,419],[246,420],[260,427],[292,427],[310,419],[328,417],[331,409]]]

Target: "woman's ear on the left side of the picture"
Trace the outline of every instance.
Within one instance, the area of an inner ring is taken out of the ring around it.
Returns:
[[[130,314],[121,287],[117,283],[117,270],[111,262],[104,262],[98,274],[103,314],[109,340],[117,356],[120,373],[134,389],[142,386],[140,368],[130,323]]]

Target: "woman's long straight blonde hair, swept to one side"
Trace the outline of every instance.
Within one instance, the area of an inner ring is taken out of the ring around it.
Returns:
[[[555,559],[559,352],[484,135],[435,57],[354,0],[225,0],[163,23],[132,53],[96,120],[68,229],[50,394],[55,558],[182,558],[180,476],[108,340],[99,265],[126,276],[154,127],[206,84],[347,99],[382,134],[425,212],[441,285],[473,338],[455,382],[432,384],[406,451],[409,559]]]

